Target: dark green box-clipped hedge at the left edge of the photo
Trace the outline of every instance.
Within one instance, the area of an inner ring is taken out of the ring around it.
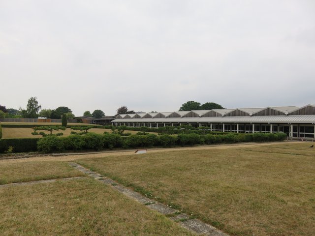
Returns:
[[[13,152],[29,152],[37,151],[37,141],[39,139],[1,139],[0,153],[7,151],[9,147],[13,147]]]

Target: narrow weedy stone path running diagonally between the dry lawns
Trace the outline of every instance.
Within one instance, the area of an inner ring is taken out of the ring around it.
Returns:
[[[184,227],[184,228],[186,228],[186,229],[188,229],[194,233],[197,233],[198,235],[202,235],[202,236],[228,236],[227,234],[221,232],[217,228],[215,228],[209,224],[206,224],[206,223],[202,222],[201,220],[191,219],[189,217],[189,215],[187,215],[185,213],[181,213],[179,210],[173,209],[173,208],[168,207],[168,206],[161,204],[161,203],[154,202],[152,199],[144,197],[141,194],[134,192],[131,189],[126,188],[125,186],[123,186],[121,184],[118,184],[116,181],[114,181],[110,178],[107,178],[107,177],[103,177],[102,175],[100,175],[96,172],[90,171],[90,170],[84,168],[83,166],[80,166],[77,163],[70,162],[69,165],[82,171],[83,173],[89,175],[90,177],[93,177],[96,180],[111,186],[113,189],[121,192],[125,196],[127,196],[127,197],[153,209],[153,210],[156,210],[161,214],[168,216],[171,220],[178,222],[182,227]]]

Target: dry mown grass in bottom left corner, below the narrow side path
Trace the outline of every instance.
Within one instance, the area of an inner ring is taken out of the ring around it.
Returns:
[[[1,236],[194,235],[91,178],[2,187],[0,199]]]

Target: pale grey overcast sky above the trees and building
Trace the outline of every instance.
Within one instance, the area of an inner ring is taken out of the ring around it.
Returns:
[[[0,104],[315,104],[314,0],[0,0]]]

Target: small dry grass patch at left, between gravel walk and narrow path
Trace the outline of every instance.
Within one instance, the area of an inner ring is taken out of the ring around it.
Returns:
[[[0,184],[78,176],[84,174],[65,162],[1,162],[0,165]]]

